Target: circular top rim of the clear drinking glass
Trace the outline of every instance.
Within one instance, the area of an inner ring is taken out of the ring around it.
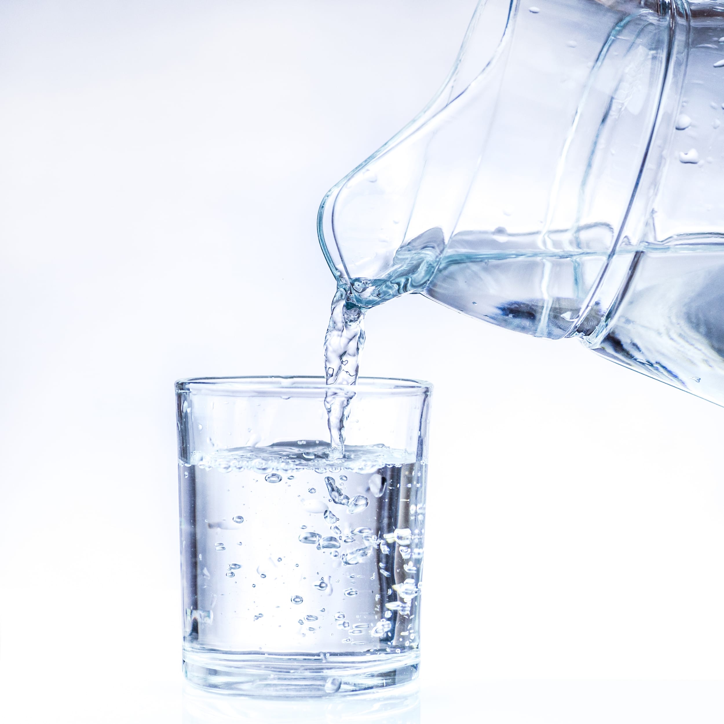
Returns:
[[[432,392],[432,384],[421,379],[403,377],[358,377],[353,386],[327,384],[321,375],[244,375],[228,377],[188,377],[178,379],[176,392],[193,392],[198,395],[239,395],[255,392],[309,392],[348,390],[355,393],[382,395],[418,395]]]

